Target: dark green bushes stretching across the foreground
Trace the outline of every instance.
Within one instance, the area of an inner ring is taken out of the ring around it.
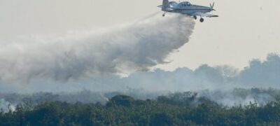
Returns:
[[[265,106],[251,103],[228,108],[194,99],[195,95],[185,92],[153,100],[117,95],[106,105],[19,104],[15,111],[0,112],[0,125],[280,125],[280,99]]]

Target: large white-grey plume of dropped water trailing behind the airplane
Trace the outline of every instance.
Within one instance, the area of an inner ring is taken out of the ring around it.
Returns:
[[[1,42],[0,78],[5,83],[33,78],[76,79],[146,71],[188,42],[195,22],[186,16],[154,15],[100,34],[59,38],[22,37]]]

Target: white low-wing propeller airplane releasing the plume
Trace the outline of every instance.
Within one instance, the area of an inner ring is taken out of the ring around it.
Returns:
[[[188,1],[177,3],[176,1],[169,2],[168,0],[163,0],[162,5],[158,7],[162,8],[162,11],[165,11],[165,13],[181,13],[183,15],[189,15],[195,20],[197,20],[197,17],[200,17],[200,22],[204,22],[204,19],[202,17],[218,17],[218,15],[209,14],[209,12],[215,10],[214,3],[210,3],[210,7],[208,7],[193,5]],[[163,13],[162,17],[165,17],[165,13]]]

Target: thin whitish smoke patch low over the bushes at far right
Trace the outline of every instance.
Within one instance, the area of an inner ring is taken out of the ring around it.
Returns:
[[[203,90],[199,92],[199,95],[223,106],[248,106],[249,104],[264,106],[275,100],[279,95],[279,90],[235,88],[231,90]]]

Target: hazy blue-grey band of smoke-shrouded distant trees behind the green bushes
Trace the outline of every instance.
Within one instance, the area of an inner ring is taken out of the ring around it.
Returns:
[[[15,106],[26,100],[36,104],[47,101],[104,104],[116,94],[127,94],[137,99],[155,99],[162,94],[168,96],[174,92],[192,91],[197,92],[196,99],[206,97],[225,106],[244,106],[255,102],[258,105],[265,105],[280,95],[280,74],[277,74],[280,71],[279,66],[280,55],[270,54],[265,61],[253,59],[250,66],[241,71],[231,66],[204,64],[195,70],[156,69],[132,73],[125,78],[116,75],[88,78],[89,80],[79,81],[80,83],[41,81],[25,85],[26,88],[12,88],[6,93],[0,93],[0,99],[1,106],[6,107],[7,111],[8,104]],[[1,92],[5,92],[7,88],[0,85]],[[24,94],[10,93],[22,90],[25,90],[22,92]]]

